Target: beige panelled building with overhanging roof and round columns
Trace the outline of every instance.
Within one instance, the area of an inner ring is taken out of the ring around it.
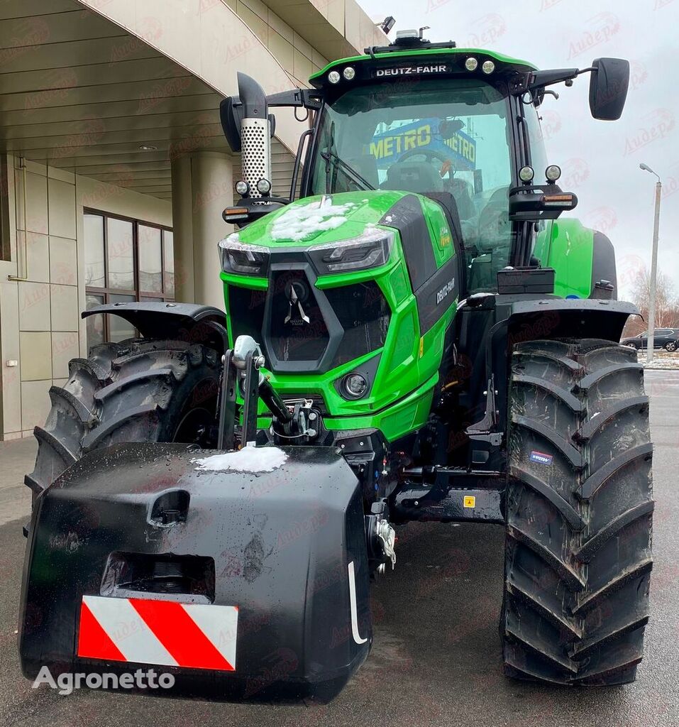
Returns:
[[[0,4],[0,439],[30,435],[117,300],[222,306],[216,242],[239,160],[219,124],[236,73],[267,93],[384,44],[355,0]],[[275,193],[303,124],[277,113]]]

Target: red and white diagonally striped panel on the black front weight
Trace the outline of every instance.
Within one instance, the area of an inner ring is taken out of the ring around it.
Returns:
[[[78,656],[232,672],[237,606],[84,595]]]

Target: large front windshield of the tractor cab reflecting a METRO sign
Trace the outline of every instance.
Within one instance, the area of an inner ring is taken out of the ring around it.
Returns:
[[[469,251],[470,292],[490,290],[511,249],[510,152],[508,102],[484,81],[357,87],[322,111],[310,193],[450,193]]]

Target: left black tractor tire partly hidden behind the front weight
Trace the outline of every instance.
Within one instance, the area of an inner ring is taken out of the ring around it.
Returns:
[[[178,340],[130,339],[75,358],[52,410],[36,427],[38,456],[25,483],[36,497],[93,449],[121,442],[214,444],[219,355]]]

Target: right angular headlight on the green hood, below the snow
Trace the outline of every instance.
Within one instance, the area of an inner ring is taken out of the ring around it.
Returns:
[[[312,247],[309,255],[319,275],[378,268],[389,261],[394,233],[375,229],[360,237]]]

